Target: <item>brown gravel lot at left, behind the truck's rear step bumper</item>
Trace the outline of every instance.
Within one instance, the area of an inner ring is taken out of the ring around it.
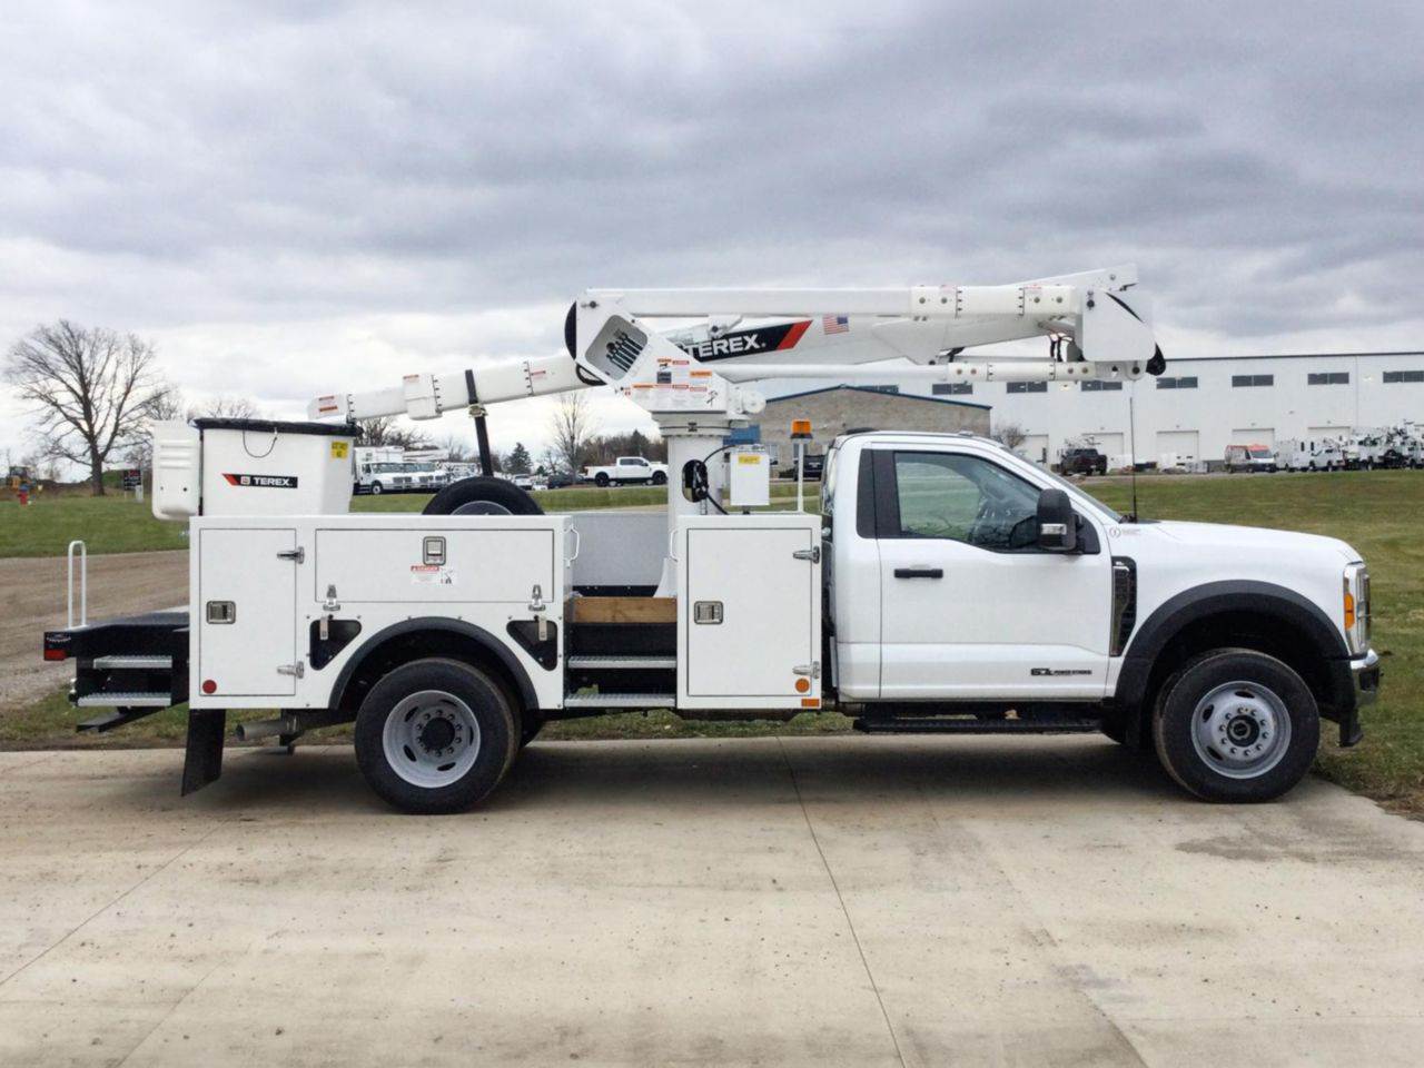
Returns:
[[[66,622],[64,557],[0,560],[0,709],[63,686],[73,665],[40,659],[46,629]],[[78,612],[78,562],[74,611]],[[88,561],[88,615],[131,615],[188,601],[188,553],[117,553]]]

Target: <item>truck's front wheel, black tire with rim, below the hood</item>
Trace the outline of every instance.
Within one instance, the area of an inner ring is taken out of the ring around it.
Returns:
[[[1320,712],[1300,675],[1274,656],[1213,649],[1162,686],[1152,738],[1162,766],[1198,797],[1267,802],[1310,770]]]

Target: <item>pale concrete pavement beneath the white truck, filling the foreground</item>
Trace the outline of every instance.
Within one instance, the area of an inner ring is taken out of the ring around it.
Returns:
[[[0,753],[0,1064],[1387,1065],[1424,824],[1199,805],[1102,739]]]

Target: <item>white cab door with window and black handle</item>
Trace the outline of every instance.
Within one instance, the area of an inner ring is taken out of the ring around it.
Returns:
[[[1102,698],[1112,609],[1105,531],[1084,515],[1088,551],[1040,550],[1041,487],[988,453],[874,453],[880,696]]]

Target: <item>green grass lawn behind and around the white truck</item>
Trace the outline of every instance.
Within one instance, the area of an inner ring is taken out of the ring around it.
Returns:
[[[1087,487],[1108,504],[1126,508],[1124,478],[1098,478]],[[776,487],[779,498],[793,487]],[[1354,749],[1334,745],[1324,732],[1319,769],[1323,775],[1394,807],[1424,813],[1424,541],[1414,518],[1424,514],[1424,473],[1346,471],[1235,477],[1145,477],[1138,483],[1139,508],[1151,518],[1202,520],[1280,527],[1343,538],[1370,564],[1374,592],[1374,648],[1383,655],[1384,692],[1364,709],[1366,739]],[[420,496],[363,497],[357,511],[414,511]],[[662,490],[554,490],[543,496],[550,511],[582,507],[656,504]],[[815,498],[812,498],[815,503]],[[9,511],[6,510],[9,508]],[[54,511],[41,511],[53,508]],[[137,548],[181,548],[181,527],[158,524],[147,506],[131,501],[68,498],[36,504],[20,518],[28,533],[10,531],[13,504],[0,504],[0,555],[41,555],[68,537],[85,537],[94,553]],[[157,535],[171,541],[154,544]],[[36,531],[43,531],[43,538]],[[30,553],[16,551],[30,548]],[[40,550],[44,550],[41,553]],[[30,709],[0,716],[0,745],[73,743],[75,713],[56,696]],[[1333,725],[1330,725],[1333,726]],[[678,738],[689,735],[756,735],[843,731],[840,715],[799,716],[789,725],[685,723],[671,713],[639,713],[554,723],[547,738]],[[165,712],[100,739],[154,745],[178,740],[182,716]],[[343,736],[342,731],[329,732]]]

